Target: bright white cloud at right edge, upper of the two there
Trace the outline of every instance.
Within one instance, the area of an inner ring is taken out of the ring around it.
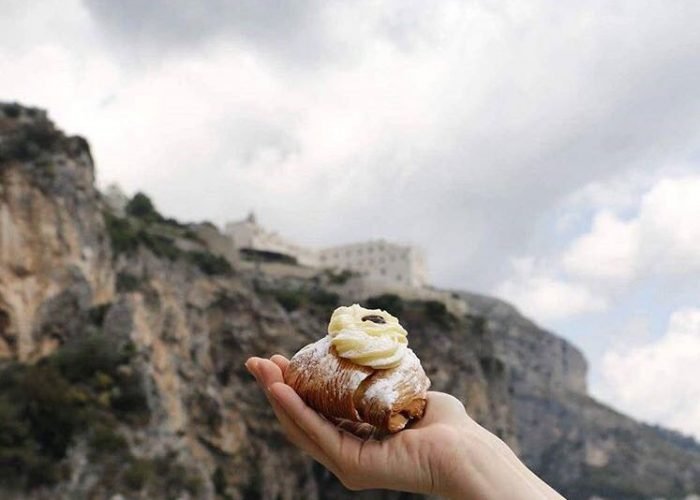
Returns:
[[[603,311],[645,284],[669,296],[684,283],[697,285],[700,175],[657,178],[634,208],[629,200],[624,205],[631,212],[627,217],[599,208],[590,229],[560,253],[512,259],[512,276],[495,293],[551,322]]]

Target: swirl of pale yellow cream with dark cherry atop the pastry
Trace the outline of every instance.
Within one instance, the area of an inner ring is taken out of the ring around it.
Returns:
[[[395,316],[358,304],[333,312],[328,335],[338,356],[372,368],[398,366],[408,346],[407,332]]]

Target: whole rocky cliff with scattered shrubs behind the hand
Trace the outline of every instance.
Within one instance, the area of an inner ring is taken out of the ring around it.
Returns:
[[[344,490],[287,444],[243,368],[318,338],[337,277],[232,268],[200,229],[145,196],[111,213],[85,140],[0,105],[0,495],[411,498]],[[597,403],[575,347],[455,293],[468,314],[369,300],[400,314],[434,389],[569,498],[700,492],[697,443]]]

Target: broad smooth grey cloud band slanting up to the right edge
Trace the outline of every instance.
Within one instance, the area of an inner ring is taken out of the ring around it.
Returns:
[[[484,112],[446,126],[439,148],[414,158],[418,172],[386,200],[409,202],[392,210],[384,230],[426,242],[439,282],[489,287],[510,272],[508,257],[530,251],[537,224],[563,196],[620,171],[684,162],[697,150],[700,38],[679,29],[624,47],[625,35],[615,35],[610,52],[581,62],[588,74],[562,79],[570,88],[547,91],[542,80],[524,87],[513,75],[486,98],[493,118]],[[561,64],[552,78],[562,76]],[[509,112],[519,91],[534,95],[535,112]]]

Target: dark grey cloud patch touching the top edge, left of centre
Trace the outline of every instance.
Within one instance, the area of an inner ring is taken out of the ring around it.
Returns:
[[[234,39],[255,51],[294,61],[329,49],[320,21],[323,2],[280,0],[84,0],[120,52],[139,59],[177,56],[207,42]]]

